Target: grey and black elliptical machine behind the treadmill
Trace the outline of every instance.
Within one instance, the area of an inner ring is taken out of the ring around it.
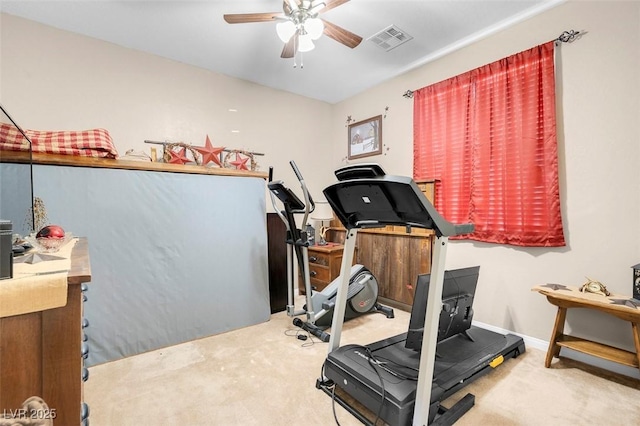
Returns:
[[[324,330],[331,326],[341,281],[340,277],[336,278],[320,292],[311,288],[309,235],[307,235],[306,228],[307,219],[315,209],[315,204],[295,162],[290,161],[289,164],[300,181],[304,202],[291,189],[284,186],[282,181],[273,181],[272,167],[269,168],[269,183],[267,184],[273,208],[287,228],[287,315],[290,317],[306,315],[306,321],[294,318],[293,325],[308,331],[323,342],[328,342],[330,336]],[[280,200],[283,210],[278,208],[276,199]],[[296,214],[303,214],[300,228],[296,223]],[[306,293],[306,304],[301,310],[295,309],[294,296],[297,280],[294,270],[294,255],[298,261]],[[373,274],[363,265],[353,265],[350,274],[345,320],[374,312],[382,313],[387,318],[393,318],[393,309],[378,303],[378,281]]]

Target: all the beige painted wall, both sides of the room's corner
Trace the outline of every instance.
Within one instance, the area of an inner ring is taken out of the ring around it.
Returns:
[[[2,15],[0,99],[25,127],[106,127],[124,154],[144,139],[204,142],[264,152],[262,169],[292,182],[295,159],[312,189],[334,181],[346,157],[346,120],[385,114],[388,173],[412,173],[417,89],[544,43],[560,48],[559,144],[567,247],[522,249],[453,242],[447,267],[481,265],[475,319],[548,340],[555,315],[535,284],[585,276],[631,292],[640,262],[640,2],[568,2],[336,105],[256,86],[152,55]],[[26,103],[24,97],[31,101]],[[237,108],[231,114],[228,108]],[[238,135],[230,130],[239,128]],[[316,149],[322,147],[323,149]],[[311,155],[312,154],[312,155]],[[592,317],[598,322],[591,320]],[[570,312],[570,329],[632,347],[626,323]]]

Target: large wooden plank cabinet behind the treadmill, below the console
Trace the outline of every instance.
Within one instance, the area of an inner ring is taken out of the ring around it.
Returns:
[[[416,182],[433,203],[435,182]],[[355,262],[368,268],[378,280],[382,303],[410,310],[419,274],[431,272],[433,231],[402,226],[360,229],[356,238]],[[337,220],[331,222],[328,240],[344,243],[346,231]]]

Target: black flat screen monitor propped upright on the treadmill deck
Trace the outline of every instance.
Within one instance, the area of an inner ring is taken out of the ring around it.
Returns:
[[[442,310],[438,324],[438,342],[464,333],[473,319],[473,297],[476,292],[480,266],[454,269],[444,272]],[[405,347],[419,351],[422,348],[424,319],[429,296],[430,274],[418,275],[416,282],[409,331]]]

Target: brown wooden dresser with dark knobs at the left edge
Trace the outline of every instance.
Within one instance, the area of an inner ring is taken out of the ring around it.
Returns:
[[[82,327],[89,281],[88,244],[80,238],[71,253],[66,305],[0,318],[0,413],[16,413],[27,398],[39,396],[54,425],[88,424]]]

